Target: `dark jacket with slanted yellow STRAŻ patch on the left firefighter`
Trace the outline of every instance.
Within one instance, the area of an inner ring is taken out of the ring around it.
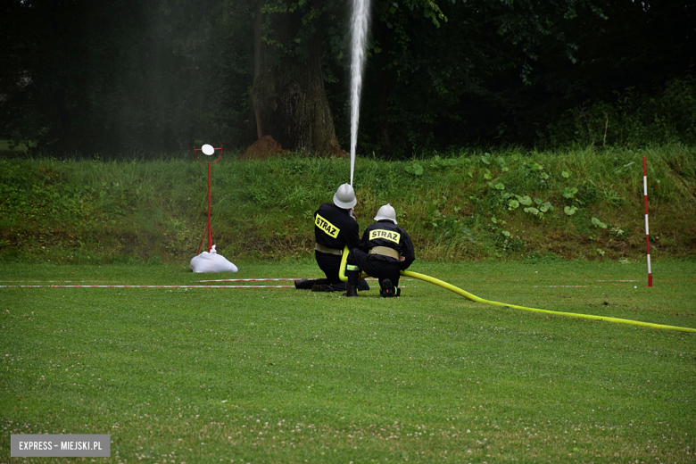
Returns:
[[[358,221],[351,217],[350,210],[323,203],[314,213],[314,237],[318,244],[329,248],[343,251],[347,244],[351,250],[360,244]]]

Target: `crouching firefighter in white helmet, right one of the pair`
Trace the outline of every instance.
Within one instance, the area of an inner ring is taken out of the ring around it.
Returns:
[[[379,280],[383,297],[399,296],[399,271],[408,269],[416,259],[409,234],[396,225],[396,211],[391,204],[379,208],[375,220],[362,233],[360,244],[348,254],[345,296],[358,296],[359,283],[364,282],[359,280],[361,271]]]

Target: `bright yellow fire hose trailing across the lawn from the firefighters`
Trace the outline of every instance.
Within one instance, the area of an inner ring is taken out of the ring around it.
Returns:
[[[338,272],[338,276],[341,278],[343,282],[347,282],[348,278],[345,276],[345,266],[347,264],[348,260],[348,247],[346,246],[344,248],[344,254],[341,259],[341,269]],[[619,318],[609,318],[606,316],[594,316],[592,314],[578,314],[576,312],[563,312],[563,311],[549,311],[549,310],[539,310],[537,308],[527,308],[526,306],[517,306],[515,304],[508,304],[504,302],[491,302],[489,300],[484,300],[483,298],[479,298],[475,294],[469,294],[468,292],[465,292],[461,288],[457,286],[452,286],[452,284],[448,284],[447,282],[444,282],[443,280],[440,280],[439,278],[431,278],[430,276],[426,276],[425,274],[418,274],[418,272],[411,272],[410,270],[402,270],[401,275],[407,278],[418,278],[420,280],[424,280],[426,282],[430,282],[431,284],[435,284],[436,286],[442,286],[443,288],[450,290],[454,292],[455,294],[460,294],[461,296],[464,296],[465,298],[468,298],[472,302],[482,302],[484,304],[493,304],[493,306],[504,306],[507,308],[514,308],[516,310],[524,310],[524,311],[534,311],[534,312],[543,312],[546,314],[554,314],[557,316],[568,316],[570,318],[580,318],[580,319],[594,319],[594,320],[605,320],[607,322],[614,322],[617,324],[630,324],[633,326],[641,326],[641,327],[652,327],[652,328],[662,328],[665,330],[678,330],[680,332],[693,332],[696,333],[696,328],[689,328],[689,327],[678,327],[678,326],[666,326],[663,324],[652,324],[650,322],[641,322],[639,320],[631,320],[631,319],[619,319]]]

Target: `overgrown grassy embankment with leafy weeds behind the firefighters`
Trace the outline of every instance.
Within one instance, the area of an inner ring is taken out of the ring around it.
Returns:
[[[392,203],[427,261],[642,259],[642,156],[654,260],[696,248],[696,148],[461,151],[383,162],[360,157],[361,228]],[[349,178],[346,160],[289,155],[212,166],[212,230],[231,261],[311,256],[311,216]],[[4,261],[175,262],[195,255],[206,169],[161,161],[0,162]]]

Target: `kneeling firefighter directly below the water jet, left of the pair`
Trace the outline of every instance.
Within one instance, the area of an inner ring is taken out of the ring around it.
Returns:
[[[344,292],[346,284],[338,277],[344,247],[348,249],[360,243],[358,221],[352,216],[352,209],[358,200],[350,184],[339,186],[334,195],[334,203],[323,203],[314,213],[314,257],[319,269],[326,278],[295,280],[298,289],[314,292]],[[368,283],[360,283],[360,290],[369,290]]]

